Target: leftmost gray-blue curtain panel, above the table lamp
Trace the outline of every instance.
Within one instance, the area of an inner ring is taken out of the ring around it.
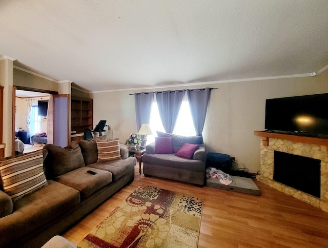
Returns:
[[[154,92],[134,93],[137,131],[139,131],[142,124],[149,124],[153,100]]]

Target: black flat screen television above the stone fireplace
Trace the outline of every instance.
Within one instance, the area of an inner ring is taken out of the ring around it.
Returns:
[[[328,137],[328,93],[267,99],[265,129]]]

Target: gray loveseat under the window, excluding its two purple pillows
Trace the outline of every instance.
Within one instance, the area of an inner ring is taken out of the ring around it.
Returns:
[[[145,176],[156,176],[204,185],[206,146],[202,136],[180,136],[157,132],[159,137],[172,137],[173,153],[156,154],[156,143],[146,146],[146,153],[142,157]],[[184,143],[199,144],[191,159],[175,156]]]

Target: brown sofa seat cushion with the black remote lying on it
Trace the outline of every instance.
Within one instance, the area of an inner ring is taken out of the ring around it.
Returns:
[[[89,170],[97,174],[92,175],[87,172]],[[94,192],[111,183],[112,173],[83,167],[58,176],[55,180],[78,190],[81,194],[81,199],[86,199]]]

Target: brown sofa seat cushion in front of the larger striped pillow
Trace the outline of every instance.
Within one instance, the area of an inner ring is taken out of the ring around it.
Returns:
[[[13,213],[0,218],[0,233],[2,237],[8,237],[5,242],[31,233],[67,213],[80,202],[77,190],[52,180],[48,180],[48,183],[46,187],[15,201]]]

